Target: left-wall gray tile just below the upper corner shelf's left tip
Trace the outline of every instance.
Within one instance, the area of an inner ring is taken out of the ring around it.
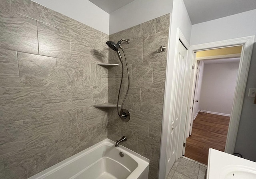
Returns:
[[[84,62],[84,86],[101,85],[101,69],[96,63]]]

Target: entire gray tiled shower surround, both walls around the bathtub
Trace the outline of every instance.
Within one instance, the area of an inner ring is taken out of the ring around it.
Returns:
[[[0,179],[26,179],[105,138],[150,159],[157,178],[170,14],[110,35],[124,45],[131,88],[122,122],[121,67],[108,35],[30,0],[0,0]],[[127,87],[127,75],[124,85]],[[125,87],[122,89],[124,95]]]

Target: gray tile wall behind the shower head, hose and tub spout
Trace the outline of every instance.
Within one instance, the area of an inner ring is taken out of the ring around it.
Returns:
[[[167,59],[166,52],[156,53],[156,50],[162,45],[168,46],[169,23],[170,14],[167,14],[109,36],[114,42],[122,38],[131,40],[124,45],[131,83],[124,108],[130,110],[131,116],[129,122],[123,122],[116,108],[109,110],[108,138],[116,141],[126,136],[127,141],[121,145],[150,159],[150,179],[158,176]],[[112,50],[109,51],[109,63],[119,63]],[[121,65],[109,70],[109,102],[117,102],[121,74]],[[121,100],[128,85],[127,75],[123,84]]]

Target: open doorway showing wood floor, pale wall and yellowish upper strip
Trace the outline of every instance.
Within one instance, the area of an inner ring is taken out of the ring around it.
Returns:
[[[196,53],[192,119],[184,156],[207,164],[208,149],[225,150],[242,46]]]

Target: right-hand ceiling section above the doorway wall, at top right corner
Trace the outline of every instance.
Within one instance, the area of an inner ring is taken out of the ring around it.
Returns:
[[[256,9],[256,0],[184,0],[192,24]]]

